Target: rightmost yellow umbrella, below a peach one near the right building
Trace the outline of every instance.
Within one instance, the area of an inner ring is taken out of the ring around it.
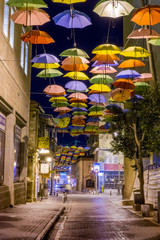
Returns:
[[[141,58],[143,58],[143,57],[150,56],[150,53],[142,47],[133,46],[133,47],[128,47],[125,50],[123,50],[121,52],[121,55],[123,55],[125,57],[135,57],[135,58],[141,57]]]

